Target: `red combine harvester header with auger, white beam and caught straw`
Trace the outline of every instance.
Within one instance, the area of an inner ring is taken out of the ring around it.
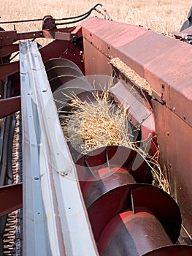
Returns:
[[[192,255],[190,35],[1,29],[0,255]]]

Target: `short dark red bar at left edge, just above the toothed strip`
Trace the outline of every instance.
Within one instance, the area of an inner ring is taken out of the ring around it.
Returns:
[[[0,118],[4,118],[20,110],[20,96],[8,99],[0,99]]]

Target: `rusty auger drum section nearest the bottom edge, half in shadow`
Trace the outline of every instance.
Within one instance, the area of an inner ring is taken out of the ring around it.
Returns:
[[[98,247],[101,256],[141,256],[171,244],[172,241],[153,214],[125,211],[104,227]]]

